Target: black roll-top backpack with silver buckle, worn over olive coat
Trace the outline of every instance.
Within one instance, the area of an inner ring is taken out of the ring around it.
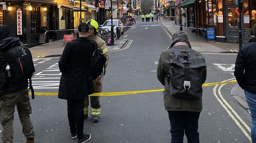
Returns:
[[[206,68],[203,56],[195,56],[193,49],[183,50],[172,47],[174,54],[169,56],[168,83],[170,93],[174,97],[187,99],[201,99],[202,69]],[[187,52],[189,56],[181,56],[180,53]]]

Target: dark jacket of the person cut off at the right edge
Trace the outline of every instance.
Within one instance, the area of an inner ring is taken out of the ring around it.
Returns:
[[[236,57],[234,75],[242,89],[256,94],[256,38],[241,47]]]

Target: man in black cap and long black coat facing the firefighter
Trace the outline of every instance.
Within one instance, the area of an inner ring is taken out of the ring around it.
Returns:
[[[93,82],[88,81],[87,73],[94,52],[88,31],[88,24],[80,23],[79,37],[66,44],[59,60],[62,75],[58,98],[67,100],[71,138],[78,138],[78,143],[91,139],[90,134],[84,134],[84,98],[94,92]]]

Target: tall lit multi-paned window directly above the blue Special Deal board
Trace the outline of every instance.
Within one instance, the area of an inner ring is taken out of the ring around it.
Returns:
[[[210,25],[216,25],[217,12],[216,12],[216,1],[205,2],[205,23]]]

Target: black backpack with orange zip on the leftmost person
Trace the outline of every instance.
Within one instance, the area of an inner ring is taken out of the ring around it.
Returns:
[[[31,77],[35,72],[34,63],[30,50],[21,42],[13,43],[12,48],[4,53],[6,62],[10,66],[12,83],[29,79],[29,89],[31,89],[32,99],[34,99],[34,89],[31,83]]]

